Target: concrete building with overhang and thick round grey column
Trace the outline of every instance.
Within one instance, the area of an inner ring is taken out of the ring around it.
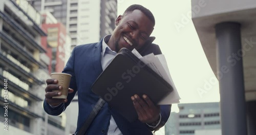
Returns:
[[[222,134],[256,134],[256,1],[191,1],[192,20],[220,86]]]

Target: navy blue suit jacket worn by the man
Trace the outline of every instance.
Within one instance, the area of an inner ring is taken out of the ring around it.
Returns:
[[[54,109],[50,107],[46,101],[44,102],[44,109],[49,115],[60,115],[70,104],[75,94],[78,93],[79,113],[76,130],[82,126],[99,99],[99,96],[91,91],[91,86],[102,72],[100,62],[101,50],[102,39],[98,43],[84,44],[75,47],[63,70],[63,73],[72,75],[70,88],[74,89],[74,93],[68,95],[67,103],[63,103]],[[142,56],[150,53],[154,53],[155,55],[161,54],[159,47],[152,43],[147,44],[146,48],[144,47],[138,51]],[[118,114],[117,111],[109,107],[108,103],[105,103],[92,122],[87,134],[106,134],[108,132],[111,115],[123,134],[152,134],[152,130],[157,130],[166,123],[169,114],[170,105],[161,105],[162,119],[160,125],[152,129],[139,120],[133,123],[128,122]]]

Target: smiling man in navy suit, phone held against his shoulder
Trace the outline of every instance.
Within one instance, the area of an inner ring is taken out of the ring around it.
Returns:
[[[117,17],[115,25],[112,35],[105,36],[100,42],[74,48],[63,70],[63,73],[72,75],[67,99],[52,99],[61,95],[52,90],[62,87],[56,85],[57,80],[47,80],[44,108],[50,115],[61,114],[78,93],[77,131],[91,113],[92,105],[99,99],[99,96],[91,91],[93,82],[121,48],[135,48],[141,55],[161,54],[159,47],[150,40],[155,26],[155,18],[150,10],[141,5],[132,5],[123,15]],[[137,121],[128,122],[105,103],[91,123],[87,134],[152,134],[152,131],[162,127],[169,117],[170,105],[154,105],[146,95],[134,95],[131,102],[134,103],[138,114]]]

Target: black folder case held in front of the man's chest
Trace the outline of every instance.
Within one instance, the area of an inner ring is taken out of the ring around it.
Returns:
[[[131,96],[147,95],[155,104],[173,87],[130,50],[122,48],[92,85],[99,95],[130,122],[138,119]]]

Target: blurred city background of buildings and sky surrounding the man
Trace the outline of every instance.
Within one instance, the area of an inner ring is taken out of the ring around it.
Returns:
[[[0,134],[73,134],[77,96],[61,115],[47,115],[42,108],[45,80],[63,70],[75,46],[111,34],[116,17],[132,4],[155,15],[154,43],[165,55],[181,97],[155,134],[256,134],[256,2],[252,0],[1,0]],[[240,27],[222,30],[222,22],[241,24],[241,37],[240,31],[235,32],[238,36],[229,32]],[[219,38],[225,34],[229,40],[241,38],[240,43]],[[227,60],[231,53],[225,52],[233,48],[220,46],[223,42],[240,46],[234,49],[243,53],[235,57],[239,59]],[[8,79],[8,117],[4,79]]]

